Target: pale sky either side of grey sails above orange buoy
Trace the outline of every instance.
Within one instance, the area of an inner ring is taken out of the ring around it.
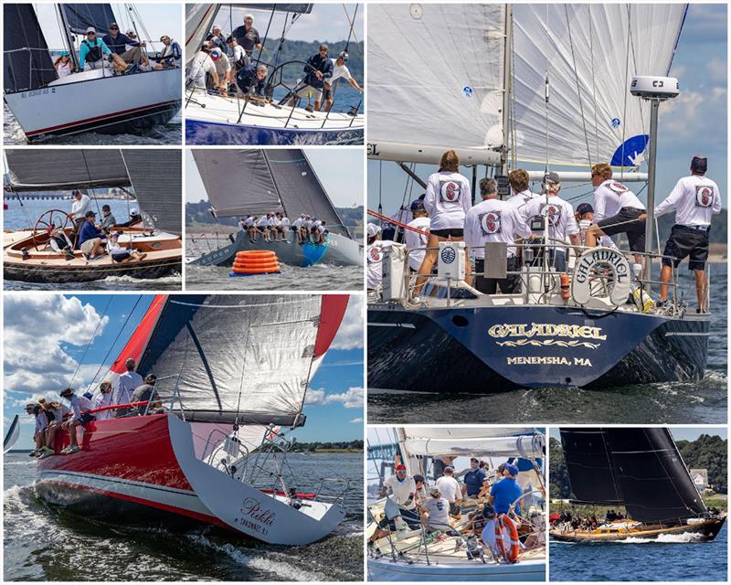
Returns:
[[[363,149],[304,148],[315,174],[335,207],[363,205]],[[206,190],[198,174],[190,149],[185,153],[185,201],[206,199]]]

